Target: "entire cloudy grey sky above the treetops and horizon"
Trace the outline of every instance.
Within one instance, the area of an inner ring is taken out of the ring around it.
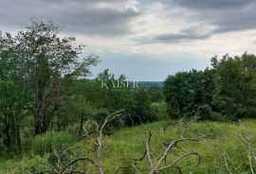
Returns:
[[[210,58],[256,53],[255,0],[0,0],[0,30],[52,21],[85,43],[104,69],[158,81],[203,70]]]

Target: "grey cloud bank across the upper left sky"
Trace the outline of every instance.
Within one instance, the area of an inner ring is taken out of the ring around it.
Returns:
[[[119,36],[131,32],[130,23],[139,15],[132,0],[0,0],[0,25],[9,27],[32,17],[73,33]]]

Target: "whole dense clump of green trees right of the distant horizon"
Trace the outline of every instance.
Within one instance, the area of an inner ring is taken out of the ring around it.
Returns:
[[[225,120],[256,114],[256,57],[225,55],[211,59],[204,71],[178,72],[165,80],[168,112],[174,117],[198,115]]]

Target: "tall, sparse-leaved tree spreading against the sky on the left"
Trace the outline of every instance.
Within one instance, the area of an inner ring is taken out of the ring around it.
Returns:
[[[15,50],[32,89],[35,134],[47,130],[66,85],[85,77],[88,67],[98,62],[95,55],[80,58],[84,45],[76,46],[74,37],[61,38],[59,31],[50,22],[32,22],[15,37]]]

